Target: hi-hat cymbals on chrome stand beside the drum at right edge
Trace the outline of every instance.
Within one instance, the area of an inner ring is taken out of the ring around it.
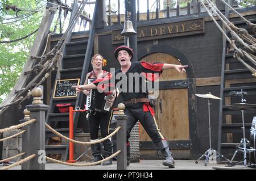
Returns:
[[[240,141],[240,145],[238,146],[237,150],[234,152],[233,157],[230,161],[231,166],[234,165],[238,165],[240,163],[243,163],[243,166],[247,166],[247,157],[246,157],[246,153],[250,153],[252,151],[254,151],[255,153],[255,148],[251,149],[249,146],[249,141],[245,138],[245,120],[244,120],[244,111],[245,110],[251,110],[254,109],[256,107],[256,104],[246,104],[246,100],[243,99],[243,95],[246,95],[245,92],[241,89],[241,92],[239,92],[239,94],[236,94],[241,96],[241,103],[236,103],[236,104],[232,104],[232,107],[230,107],[231,110],[241,110],[242,113],[242,132],[243,132],[243,138]],[[233,163],[234,158],[236,157],[236,154],[238,153],[238,151],[243,152],[243,160],[240,162],[237,162],[235,164]]]

